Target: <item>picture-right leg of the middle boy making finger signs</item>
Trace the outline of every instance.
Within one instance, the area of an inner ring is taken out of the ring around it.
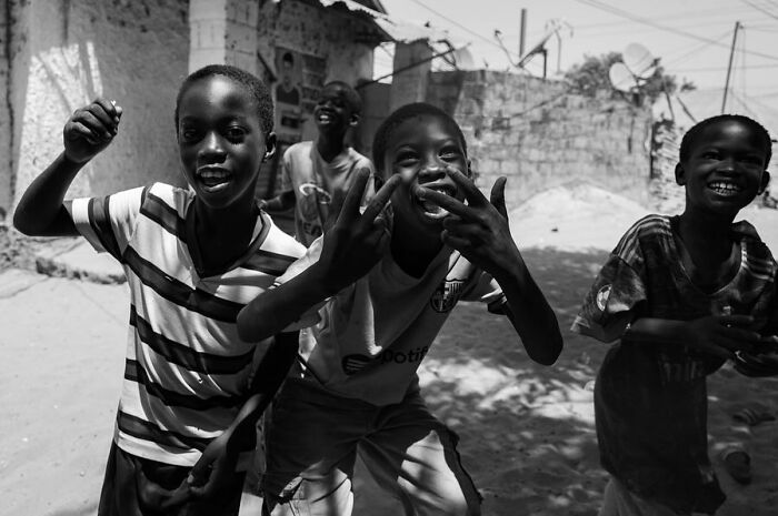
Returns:
[[[383,407],[360,456],[407,515],[480,515],[480,495],[459,461],[457,437],[419,393]]]

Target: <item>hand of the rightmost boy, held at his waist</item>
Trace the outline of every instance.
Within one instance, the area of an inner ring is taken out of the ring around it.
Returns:
[[[734,358],[735,353],[752,353],[762,342],[761,335],[749,330],[750,315],[709,315],[686,324],[687,342],[704,353],[720,358]]]

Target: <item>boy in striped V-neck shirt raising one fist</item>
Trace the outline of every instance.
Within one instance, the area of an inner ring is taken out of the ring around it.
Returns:
[[[275,151],[272,111],[256,77],[206,67],[176,102],[190,190],[154,183],[64,201],[78,171],[118,132],[121,108],[98,99],[73,113],[64,151],[19,202],[20,231],[82,234],[129,282],[124,382],[100,516],[238,514],[239,455],[253,448],[257,419],[297,346],[297,332],[283,333],[257,366],[262,346],[242,342],[236,327],[240,308],[305,252],[253,199]]]

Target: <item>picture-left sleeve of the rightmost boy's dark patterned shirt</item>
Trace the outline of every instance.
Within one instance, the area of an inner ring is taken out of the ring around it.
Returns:
[[[629,235],[625,235],[627,239]],[[610,254],[591,285],[571,330],[598,341],[619,338],[627,324],[640,316],[646,283],[639,244],[625,239]]]

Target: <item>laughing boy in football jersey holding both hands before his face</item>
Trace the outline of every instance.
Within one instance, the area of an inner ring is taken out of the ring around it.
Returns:
[[[491,202],[480,193],[448,114],[400,108],[379,128],[373,156],[388,180],[362,214],[367,174],[281,285],[238,316],[245,338],[262,337],[327,300],[315,345],[273,404],[266,512],[350,515],[359,453],[405,514],[480,514],[457,437],[426,407],[416,370],[459,300],[507,315],[542,364],[561,352],[557,320],[510,235],[505,179]]]

